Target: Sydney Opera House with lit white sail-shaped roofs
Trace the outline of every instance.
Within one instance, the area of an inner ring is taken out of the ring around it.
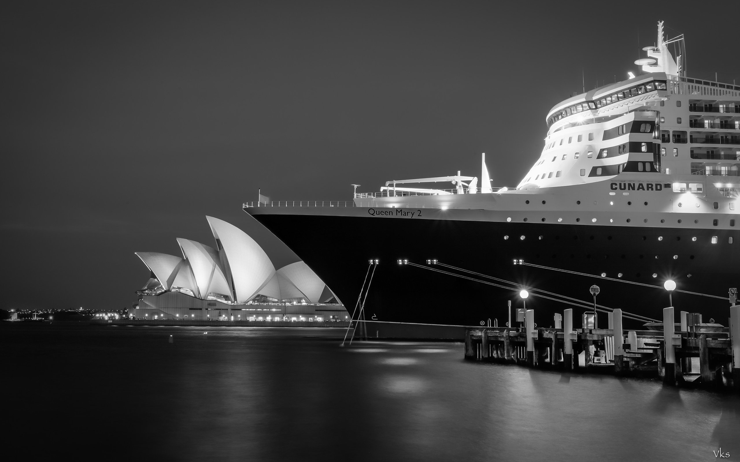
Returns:
[[[178,238],[182,257],[136,252],[149,281],[129,310],[136,319],[332,321],[349,314],[302,261],[275,269],[244,231],[206,217],[216,248]]]

